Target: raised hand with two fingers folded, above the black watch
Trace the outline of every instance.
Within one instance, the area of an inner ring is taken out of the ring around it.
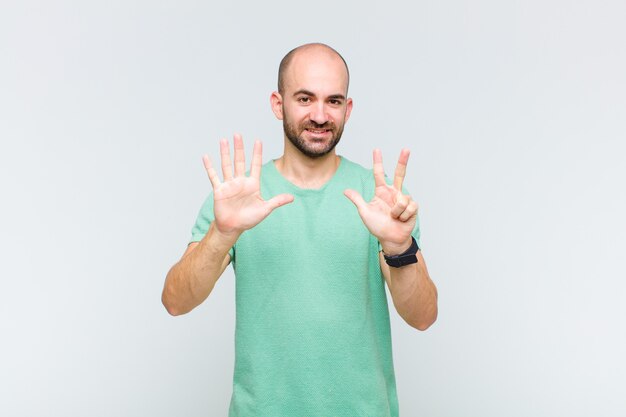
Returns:
[[[410,196],[402,194],[402,183],[409,161],[409,150],[403,149],[398,158],[393,184],[385,181],[383,157],[380,149],[374,150],[374,198],[365,202],[355,190],[345,190],[344,194],[356,206],[367,229],[378,239],[383,251],[397,255],[411,245],[411,232],[417,219],[417,203]]]

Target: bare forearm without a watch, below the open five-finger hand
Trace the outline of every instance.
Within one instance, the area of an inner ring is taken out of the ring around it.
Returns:
[[[226,236],[212,224],[206,236],[168,272],[162,301],[172,315],[188,313],[211,293],[229,262],[237,236]]]

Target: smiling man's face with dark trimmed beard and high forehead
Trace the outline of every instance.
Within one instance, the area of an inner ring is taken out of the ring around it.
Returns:
[[[285,136],[304,155],[330,153],[352,109],[346,97],[348,76],[340,58],[327,53],[294,57],[282,94]]]

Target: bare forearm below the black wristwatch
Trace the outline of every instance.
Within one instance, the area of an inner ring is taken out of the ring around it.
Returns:
[[[412,327],[426,330],[437,319],[437,288],[428,275],[421,251],[418,262],[389,271],[389,292],[398,314]],[[383,260],[384,262],[384,260]]]

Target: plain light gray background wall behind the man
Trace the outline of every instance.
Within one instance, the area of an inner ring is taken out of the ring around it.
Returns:
[[[161,288],[201,155],[280,154],[311,41],[352,71],[340,153],[412,150],[440,315],[392,312],[402,415],[626,415],[622,0],[1,5],[0,415],[226,415],[232,272],[183,317]]]

